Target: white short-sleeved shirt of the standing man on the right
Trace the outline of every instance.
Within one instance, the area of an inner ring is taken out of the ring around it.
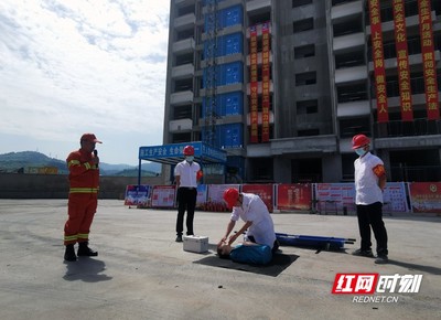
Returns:
[[[367,152],[354,161],[355,174],[355,204],[383,203],[383,192],[378,186],[378,177],[375,169],[384,166],[381,159]]]

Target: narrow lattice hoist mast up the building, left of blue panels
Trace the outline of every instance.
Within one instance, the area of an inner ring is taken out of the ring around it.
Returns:
[[[205,104],[203,141],[216,146],[216,109],[217,109],[217,0],[206,0],[206,50],[205,50]]]

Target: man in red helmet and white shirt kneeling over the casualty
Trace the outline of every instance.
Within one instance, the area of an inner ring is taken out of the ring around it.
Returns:
[[[269,246],[272,252],[279,247],[276,239],[275,224],[268,207],[259,195],[252,193],[239,193],[235,188],[229,188],[224,192],[224,201],[227,203],[228,209],[232,210],[232,217],[227,225],[225,236],[218,243],[233,244],[237,237],[246,232],[245,241],[254,242],[261,245]],[[234,235],[227,237],[233,231],[236,222],[241,218],[245,224]]]

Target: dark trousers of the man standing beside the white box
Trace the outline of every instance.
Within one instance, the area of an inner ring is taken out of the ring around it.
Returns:
[[[186,210],[186,234],[194,235],[193,220],[194,209],[196,206],[196,188],[179,188],[178,189],[178,218],[176,218],[176,234],[182,235],[184,231],[184,214]]]

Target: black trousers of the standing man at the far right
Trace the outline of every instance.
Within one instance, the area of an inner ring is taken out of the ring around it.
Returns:
[[[387,232],[383,222],[383,204],[375,202],[368,205],[357,205],[359,236],[362,237],[362,250],[369,250],[370,227],[377,241],[377,255],[387,255]]]

